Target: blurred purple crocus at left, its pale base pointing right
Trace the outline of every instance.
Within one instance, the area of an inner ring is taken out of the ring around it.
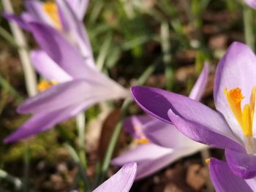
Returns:
[[[31,53],[35,68],[42,76],[59,84],[27,99],[18,107],[18,112],[31,113],[34,117],[4,142],[14,142],[52,128],[99,101],[129,96],[129,91],[88,65],[78,49],[70,45],[59,31],[43,23],[31,22],[28,25],[44,50]]]

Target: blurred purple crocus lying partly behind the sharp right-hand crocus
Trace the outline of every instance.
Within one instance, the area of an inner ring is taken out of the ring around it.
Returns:
[[[208,64],[206,63],[189,97],[200,100],[207,80]],[[129,161],[137,162],[136,179],[153,174],[173,161],[192,155],[206,147],[206,145],[187,139],[170,123],[162,122],[151,116],[138,115],[127,118],[124,128],[143,144],[114,158],[112,164],[121,166]]]

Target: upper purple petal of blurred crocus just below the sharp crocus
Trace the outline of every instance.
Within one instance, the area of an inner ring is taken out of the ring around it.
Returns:
[[[194,142],[185,137],[175,126],[157,119],[143,126],[143,134],[148,140],[162,147],[176,149],[182,147],[206,147],[206,145]]]

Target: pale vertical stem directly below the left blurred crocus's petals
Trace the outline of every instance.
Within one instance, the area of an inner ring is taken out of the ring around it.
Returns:
[[[78,147],[79,147],[79,158],[80,163],[83,165],[83,169],[87,168],[86,164],[86,149],[85,149],[85,139],[84,133],[86,129],[86,115],[84,112],[81,112],[77,116],[77,128],[78,128]]]

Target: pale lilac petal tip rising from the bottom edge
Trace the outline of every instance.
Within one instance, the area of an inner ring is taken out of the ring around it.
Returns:
[[[136,170],[137,164],[125,164],[116,174],[94,189],[94,192],[128,192],[135,180]]]

